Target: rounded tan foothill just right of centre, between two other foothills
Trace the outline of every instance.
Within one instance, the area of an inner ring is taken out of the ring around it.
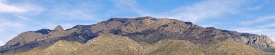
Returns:
[[[148,55],[203,55],[204,52],[190,41],[164,39],[153,45],[148,45]],[[149,51],[148,51],[149,50]],[[151,52],[150,52],[151,51]]]

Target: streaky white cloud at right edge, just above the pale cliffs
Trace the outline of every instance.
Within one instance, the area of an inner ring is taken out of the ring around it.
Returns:
[[[243,33],[255,33],[258,35],[267,35],[273,41],[275,41],[275,35],[274,35],[275,22],[268,22],[268,24],[254,25],[254,23],[263,23],[267,20],[275,20],[275,15],[259,16],[258,18],[254,19],[254,20],[252,19],[252,20],[248,20],[245,22],[241,22],[241,24],[253,26],[253,27],[243,27],[243,28],[232,29],[232,30],[243,32]]]

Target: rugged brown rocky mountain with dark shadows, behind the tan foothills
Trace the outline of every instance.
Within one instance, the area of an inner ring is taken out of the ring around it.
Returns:
[[[0,52],[25,52],[45,44],[52,45],[58,40],[78,41],[87,43],[90,39],[102,33],[122,35],[137,41],[137,43],[157,43],[164,39],[185,40],[195,45],[210,45],[225,40],[232,40],[243,45],[250,45],[259,50],[270,52],[274,50],[275,43],[265,35],[254,35],[226,31],[213,27],[203,28],[192,22],[168,18],[111,18],[107,21],[92,25],[76,25],[72,29],[64,30],[56,26],[54,30],[42,29],[39,31],[21,33],[8,41],[0,48]],[[27,50],[25,49],[26,46]]]

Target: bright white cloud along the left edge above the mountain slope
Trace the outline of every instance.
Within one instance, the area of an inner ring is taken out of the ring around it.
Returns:
[[[9,15],[0,16],[0,45],[3,45],[19,33],[28,30],[28,28],[25,28],[27,26],[25,24],[26,22],[12,19],[21,18],[23,20],[32,21],[28,16],[35,16],[43,12],[43,10],[43,7],[32,3],[9,3],[8,0],[0,0],[0,14]]]

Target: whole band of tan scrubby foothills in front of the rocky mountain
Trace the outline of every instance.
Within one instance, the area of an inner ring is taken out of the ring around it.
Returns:
[[[235,46],[235,47],[231,47]],[[114,34],[100,34],[87,43],[77,41],[57,41],[49,47],[38,47],[27,52],[17,53],[19,55],[90,55],[90,54],[112,54],[112,55],[232,55],[232,54],[265,54],[272,53],[256,50],[249,45],[241,45],[234,41],[226,40],[217,44],[200,47],[190,41],[177,39],[164,39],[157,43],[137,43],[129,37]],[[14,54],[14,53],[4,53]]]

